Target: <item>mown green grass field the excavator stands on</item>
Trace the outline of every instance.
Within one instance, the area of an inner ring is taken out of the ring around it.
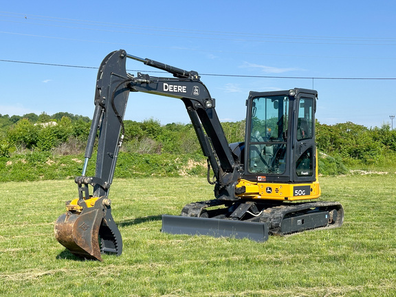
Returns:
[[[212,198],[202,178],[115,179],[122,256],[81,261],[54,238],[74,181],[3,183],[1,296],[396,296],[395,175],[323,177],[342,228],[248,239],[160,232],[161,214]]]

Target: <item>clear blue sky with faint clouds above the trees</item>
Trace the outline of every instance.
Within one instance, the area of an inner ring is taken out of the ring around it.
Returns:
[[[395,1],[7,1],[0,40],[1,114],[91,118],[91,67],[119,49],[197,71],[223,121],[245,118],[251,90],[294,87],[318,91],[321,123],[381,126],[396,114]],[[189,122],[181,101],[135,93],[125,118]]]

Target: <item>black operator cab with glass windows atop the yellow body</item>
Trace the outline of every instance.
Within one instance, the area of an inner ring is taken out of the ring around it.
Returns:
[[[246,102],[245,178],[316,180],[315,110],[309,89],[250,92]]]

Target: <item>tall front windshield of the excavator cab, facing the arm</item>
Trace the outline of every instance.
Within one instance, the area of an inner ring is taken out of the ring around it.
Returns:
[[[254,98],[250,125],[250,173],[281,174],[286,168],[289,97]]]

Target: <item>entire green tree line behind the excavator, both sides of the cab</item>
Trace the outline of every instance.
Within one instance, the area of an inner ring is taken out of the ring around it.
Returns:
[[[223,122],[228,141],[243,142],[245,121]],[[91,120],[82,115],[55,113],[0,115],[0,157],[25,151],[61,155],[83,153]],[[150,118],[142,122],[125,120],[122,151],[140,154],[201,154],[192,124],[162,125]],[[384,155],[396,155],[396,132],[389,124],[367,128],[352,122],[328,125],[316,122],[318,150],[344,161],[373,164]]]

